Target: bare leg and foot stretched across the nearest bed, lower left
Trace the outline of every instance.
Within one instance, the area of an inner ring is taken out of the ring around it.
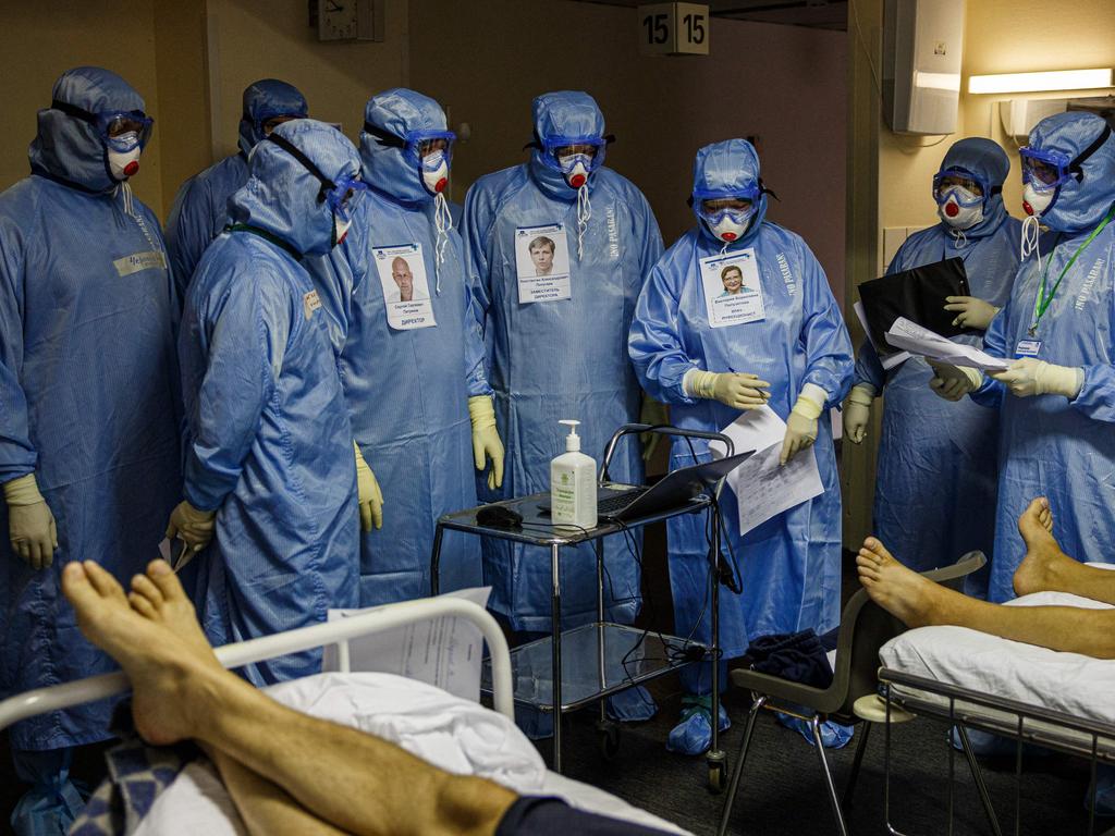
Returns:
[[[479,778],[452,776],[371,735],[280,706],[229,673],[204,638],[197,640],[196,622],[182,618],[182,586],[161,566],[165,564],[148,568],[148,580],[164,605],[169,603],[162,609],[149,600],[151,607],[135,601],[136,609],[129,606],[116,580],[91,561],[71,563],[62,572],[62,590],[81,631],[132,681],[136,728],[144,739],[171,743],[193,738],[349,833],[495,832],[514,793]],[[143,582],[137,585],[144,587]]]

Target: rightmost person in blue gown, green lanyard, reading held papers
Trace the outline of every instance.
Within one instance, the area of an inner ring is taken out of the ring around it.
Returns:
[[[1015,361],[990,377],[942,366],[932,381],[999,411],[996,602],[1014,597],[1026,552],[1016,521],[1035,496],[1057,509],[1066,554],[1112,562],[1115,543],[1115,138],[1098,116],[1058,114],[1019,155],[1025,260],[983,341]]]

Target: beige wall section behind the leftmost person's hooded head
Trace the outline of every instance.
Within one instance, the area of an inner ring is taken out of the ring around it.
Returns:
[[[50,90],[66,69],[105,67],[139,90],[155,117],[155,138],[134,181],[136,194],[156,212],[163,200],[153,0],[37,0],[0,6],[0,95],[7,115],[0,136],[0,188],[30,172],[27,146],[36,113],[50,106]]]

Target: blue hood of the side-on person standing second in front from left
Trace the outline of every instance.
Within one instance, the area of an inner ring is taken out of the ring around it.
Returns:
[[[348,138],[317,119],[294,119],[272,132],[301,150],[331,179],[358,177],[360,156]],[[248,159],[248,183],[229,198],[234,224],[275,235],[302,254],[332,249],[333,213],[318,201],[321,182],[277,143],[263,142]]]

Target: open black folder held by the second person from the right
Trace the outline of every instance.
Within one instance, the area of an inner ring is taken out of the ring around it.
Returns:
[[[886,332],[899,317],[905,317],[941,337],[979,333],[953,325],[956,312],[944,310],[946,297],[970,297],[963,259],[948,259],[911,268],[860,285],[863,312],[871,330],[871,341],[882,353],[892,353]],[[888,350],[890,349],[890,350]]]

